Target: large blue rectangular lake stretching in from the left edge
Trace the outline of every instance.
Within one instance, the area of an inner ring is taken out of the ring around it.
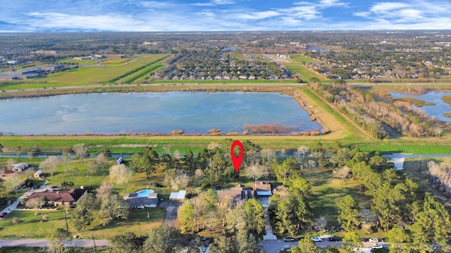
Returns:
[[[7,135],[241,134],[245,124],[321,129],[291,96],[279,93],[90,93],[0,100],[0,108],[0,132]]]

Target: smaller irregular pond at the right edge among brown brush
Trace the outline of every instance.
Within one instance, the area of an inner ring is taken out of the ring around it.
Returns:
[[[390,94],[393,98],[418,98],[425,100],[426,102],[435,103],[435,105],[423,106],[421,109],[425,110],[429,117],[435,116],[437,119],[444,122],[451,122],[451,118],[443,116],[443,113],[451,112],[451,106],[442,100],[442,96],[451,96],[451,93],[449,92],[429,91],[423,95],[410,95],[394,92],[390,92]]]

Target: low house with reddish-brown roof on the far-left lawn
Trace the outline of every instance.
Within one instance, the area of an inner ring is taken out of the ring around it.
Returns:
[[[54,207],[62,207],[67,205],[75,207],[82,195],[87,194],[87,189],[69,189],[69,190],[52,190],[49,192],[32,193],[28,196],[28,200],[37,198],[41,200],[42,196],[47,197],[47,205],[54,205]]]

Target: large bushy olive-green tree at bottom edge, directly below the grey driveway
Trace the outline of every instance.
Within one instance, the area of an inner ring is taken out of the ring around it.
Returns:
[[[147,239],[144,242],[144,250],[149,253],[178,252],[189,242],[189,237],[166,224],[150,228],[147,231]]]

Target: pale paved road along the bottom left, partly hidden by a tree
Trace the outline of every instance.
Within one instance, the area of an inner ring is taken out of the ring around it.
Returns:
[[[95,240],[97,247],[109,246],[108,240]],[[17,239],[17,240],[0,240],[0,247],[49,247],[47,240],[35,239]],[[74,239],[66,243],[66,247],[94,247],[93,240]]]

